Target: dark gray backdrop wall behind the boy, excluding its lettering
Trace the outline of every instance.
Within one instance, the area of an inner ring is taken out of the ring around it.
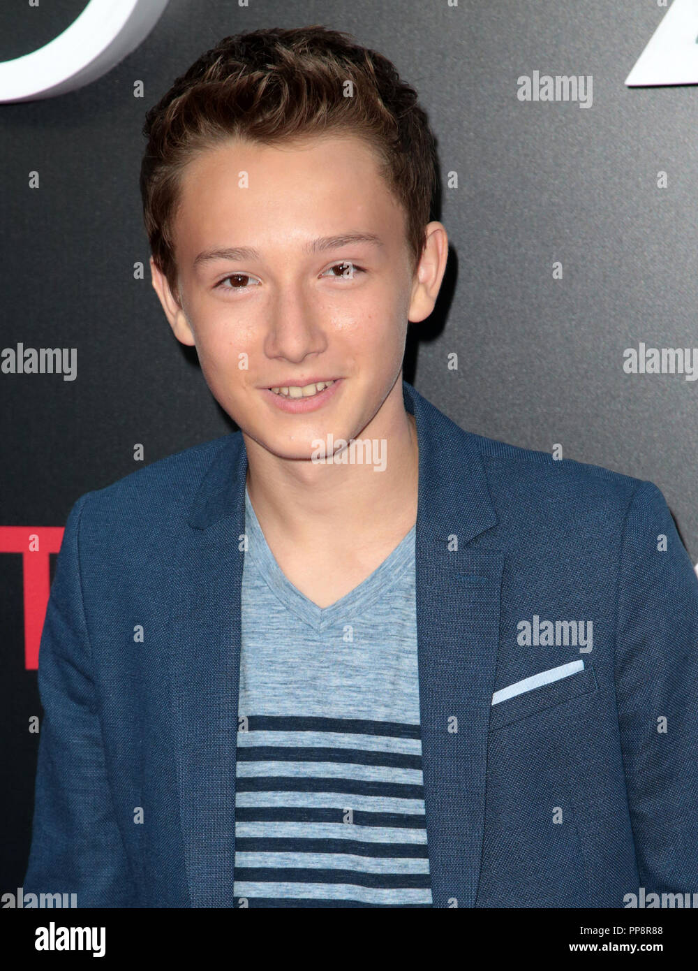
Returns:
[[[84,6],[6,5],[0,60],[45,44]],[[695,562],[698,390],[622,368],[641,341],[698,344],[698,89],[623,84],[664,14],[656,0],[170,0],[107,76],[0,106],[0,351],[78,349],[74,382],[0,374],[0,524],[62,526],[83,492],[134,470],[135,442],[151,462],[230,430],[150,286],[143,117],[219,38],[319,22],[390,57],[438,138],[449,267],[435,314],[411,328],[408,380],[472,431],[559,443],[565,457],[656,483]],[[591,108],[518,100],[517,78],[536,70],[591,75]],[[26,726],[39,702],[23,665],[18,555],[0,556],[0,588],[2,890],[19,886],[29,845],[38,736]]]

